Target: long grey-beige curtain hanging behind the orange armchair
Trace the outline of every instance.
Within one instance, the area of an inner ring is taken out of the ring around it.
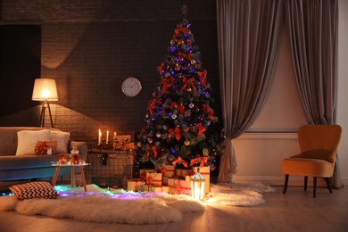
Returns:
[[[338,3],[286,0],[294,72],[310,124],[336,123]],[[334,186],[343,186],[337,157]]]

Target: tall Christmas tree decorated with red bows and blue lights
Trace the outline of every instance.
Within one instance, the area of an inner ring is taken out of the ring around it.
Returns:
[[[146,125],[138,137],[138,160],[153,162],[156,170],[166,164],[180,168],[202,164],[214,170],[215,158],[221,152],[222,138],[208,130],[218,119],[211,108],[207,70],[194,43],[184,5],[169,54],[157,67],[159,87],[148,103]]]

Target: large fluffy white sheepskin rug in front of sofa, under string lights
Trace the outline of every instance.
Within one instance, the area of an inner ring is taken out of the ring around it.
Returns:
[[[0,197],[0,211],[46,215],[99,223],[158,224],[178,222],[183,212],[204,211],[205,205],[187,195],[162,193],[112,193],[79,191],[61,193],[56,199],[19,201],[14,195]]]

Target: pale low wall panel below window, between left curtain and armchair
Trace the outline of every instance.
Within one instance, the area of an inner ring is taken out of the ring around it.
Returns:
[[[244,133],[233,139],[232,145],[237,165],[234,181],[282,185],[282,160],[300,152],[297,133]]]

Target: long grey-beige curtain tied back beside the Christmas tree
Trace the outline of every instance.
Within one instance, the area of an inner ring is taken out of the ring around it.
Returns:
[[[217,0],[220,95],[226,135],[219,182],[236,173],[231,140],[249,128],[269,91],[284,12],[283,0]]]

